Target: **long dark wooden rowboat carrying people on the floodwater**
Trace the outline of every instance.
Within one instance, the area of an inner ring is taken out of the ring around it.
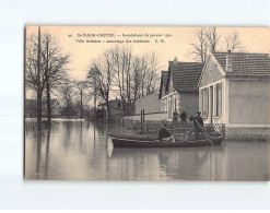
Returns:
[[[155,138],[110,135],[114,147],[189,147],[221,145],[224,137],[199,138],[197,140],[179,140],[175,142],[159,141]],[[211,142],[210,142],[211,141]]]

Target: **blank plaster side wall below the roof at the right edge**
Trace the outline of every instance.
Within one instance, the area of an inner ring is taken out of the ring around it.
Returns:
[[[228,125],[270,125],[270,81],[228,81]]]

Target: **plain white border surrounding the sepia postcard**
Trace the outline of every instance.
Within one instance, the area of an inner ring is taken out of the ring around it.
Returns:
[[[25,24],[269,26],[269,0],[1,1],[0,209],[269,209],[266,182],[62,182],[22,176]]]

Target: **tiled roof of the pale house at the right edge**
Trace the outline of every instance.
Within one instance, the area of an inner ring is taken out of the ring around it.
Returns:
[[[222,69],[226,72],[227,52],[212,52]],[[232,52],[233,76],[270,76],[270,58],[268,54]]]

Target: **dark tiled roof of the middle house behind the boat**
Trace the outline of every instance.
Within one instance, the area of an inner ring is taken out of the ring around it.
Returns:
[[[198,82],[203,69],[201,62],[168,62],[168,78],[166,91],[168,90],[168,82],[172,74],[173,85],[177,92],[196,92],[198,91]]]

